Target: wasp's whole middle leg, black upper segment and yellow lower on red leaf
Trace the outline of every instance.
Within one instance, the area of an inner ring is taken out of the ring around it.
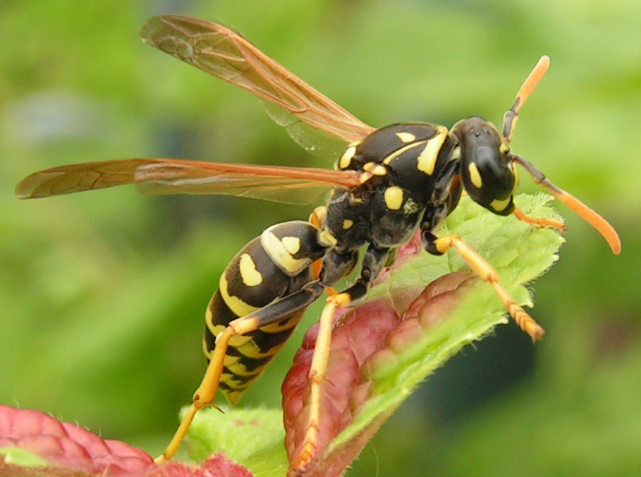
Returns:
[[[305,437],[300,451],[292,459],[290,469],[303,469],[316,455],[321,418],[322,385],[325,382],[327,372],[336,310],[349,306],[367,295],[371,282],[385,267],[391,253],[390,249],[379,249],[370,245],[363,257],[361,276],[356,283],[347,290],[327,298],[320,317],[314,356],[309,370],[309,416],[305,427]]]

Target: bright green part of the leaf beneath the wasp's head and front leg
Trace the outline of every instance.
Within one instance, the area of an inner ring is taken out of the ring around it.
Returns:
[[[547,205],[551,200],[552,197],[546,194],[522,194],[516,202],[528,215],[558,219],[556,211]],[[439,236],[446,233],[459,234],[487,258],[512,297],[519,304],[528,306],[532,306],[532,297],[524,285],[552,266],[558,259],[556,252],[564,242],[555,230],[532,227],[514,217],[499,217],[471,200],[461,201]],[[405,289],[425,287],[439,276],[465,268],[463,258],[455,250],[440,257],[422,254],[372,289],[370,297],[388,295],[393,299]],[[506,311],[501,301],[491,286],[479,282],[447,320],[431,328],[419,343],[400,353],[392,364],[373,374],[373,397],[327,452],[335,452],[364,432],[370,423],[391,414],[416,386],[465,345],[504,323],[507,323]]]

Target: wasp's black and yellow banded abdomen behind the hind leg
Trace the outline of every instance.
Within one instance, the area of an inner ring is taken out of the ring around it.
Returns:
[[[232,321],[300,290],[314,279],[312,263],[325,253],[318,229],[308,222],[274,225],[231,261],[207,308],[204,349],[211,359],[216,337]],[[235,404],[262,374],[303,317],[297,310],[276,323],[234,336],[227,348],[220,389]]]

